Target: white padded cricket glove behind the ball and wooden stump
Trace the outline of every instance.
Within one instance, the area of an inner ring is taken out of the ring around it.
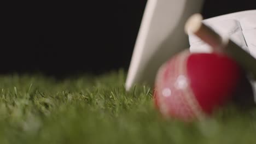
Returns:
[[[203,20],[222,36],[228,35],[232,41],[256,58],[256,10],[241,11]],[[190,52],[211,52],[211,47],[195,35],[189,35]],[[256,67],[256,63],[255,63]],[[256,82],[251,81],[256,99]]]

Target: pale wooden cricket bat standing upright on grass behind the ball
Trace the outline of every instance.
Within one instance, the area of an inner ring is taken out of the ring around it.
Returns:
[[[174,53],[189,47],[184,25],[199,13],[203,0],[149,0],[133,51],[125,83],[153,85],[158,68]]]

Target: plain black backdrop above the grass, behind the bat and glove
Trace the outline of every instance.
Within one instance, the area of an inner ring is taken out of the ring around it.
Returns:
[[[0,74],[62,77],[127,70],[146,2],[11,5],[2,18]],[[202,15],[255,8],[254,0],[206,1]]]

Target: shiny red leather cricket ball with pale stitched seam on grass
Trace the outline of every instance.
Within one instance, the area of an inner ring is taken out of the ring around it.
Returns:
[[[224,54],[183,51],[160,67],[155,104],[165,116],[203,118],[231,99],[241,75],[238,64]]]

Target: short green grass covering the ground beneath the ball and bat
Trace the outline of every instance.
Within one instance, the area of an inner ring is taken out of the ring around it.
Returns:
[[[0,76],[0,143],[256,143],[256,110],[202,122],[162,118],[152,89],[124,89],[122,71],[56,81]]]

